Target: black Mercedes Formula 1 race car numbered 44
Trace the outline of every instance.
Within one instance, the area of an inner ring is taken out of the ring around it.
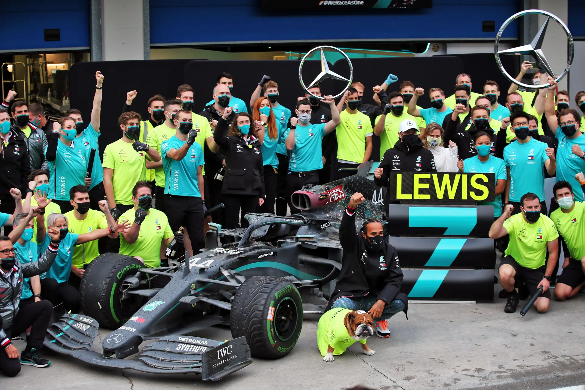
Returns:
[[[350,195],[367,199],[358,219],[383,214],[372,169],[366,163],[357,175],[297,191],[292,201],[302,214],[249,213],[247,229],[212,224],[207,248],[167,267],[102,254],[82,279],[84,314],[64,315],[44,345],[102,367],[195,372],[212,381],[252,357],[285,356],[300,336],[303,313],[322,312],[334,287],[342,258],[338,227]],[[218,324],[229,325],[233,340],[190,336]],[[104,337],[103,353],[90,350],[99,326],[116,329]],[[139,351],[150,339],[157,341]],[[137,360],[126,359],[139,352]]]

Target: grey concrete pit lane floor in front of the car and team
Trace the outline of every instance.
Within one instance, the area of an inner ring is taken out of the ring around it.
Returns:
[[[408,317],[395,315],[389,339],[373,336],[374,356],[353,344],[332,363],[325,363],[316,346],[319,316],[305,315],[294,350],[280,360],[256,359],[220,382],[198,376],[152,375],[106,369],[44,350],[50,367],[22,366],[15,378],[0,378],[2,390],[158,390],[158,389],[347,389],[361,384],[372,389],[557,389],[585,384],[585,294],[566,302],[551,302],[543,315],[533,308],[504,313],[505,299],[474,305],[412,304]],[[100,330],[94,350],[100,351]],[[196,336],[231,339],[226,327],[211,327]],[[19,351],[24,341],[16,340]]]

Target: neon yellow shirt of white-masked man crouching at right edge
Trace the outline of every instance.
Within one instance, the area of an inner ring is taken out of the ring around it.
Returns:
[[[585,256],[584,218],[585,203],[581,202],[575,202],[573,210],[568,213],[563,213],[561,208],[550,213],[550,219],[555,222],[556,230],[563,236],[571,257],[579,261]]]

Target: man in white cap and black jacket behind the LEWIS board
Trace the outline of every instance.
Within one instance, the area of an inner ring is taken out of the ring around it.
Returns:
[[[418,125],[413,119],[405,119],[398,129],[398,141],[394,147],[386,150],[380,165],[374,170],[374,182],[378,187],[388,187],[390,172],[436,172],[435,158],[430,150],[425,149],[419,139]],[[390,204],[390,191],[386,191],[384,205]]]

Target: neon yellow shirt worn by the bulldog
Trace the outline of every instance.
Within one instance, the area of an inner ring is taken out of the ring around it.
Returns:
[[[336,308],[325,312],[319,319],[317,326],[317,346],[321,352],[321,356],[325,356],[327,348],[331,345],[333,348],[333,355],[337,356],[345,352],[347,347],[355,343],[357,340],[349,337],[347,328],[345,327],[345,315],[352,312],[350,309]],[[367,340],[359,340],[360,343],[366,344]]]

